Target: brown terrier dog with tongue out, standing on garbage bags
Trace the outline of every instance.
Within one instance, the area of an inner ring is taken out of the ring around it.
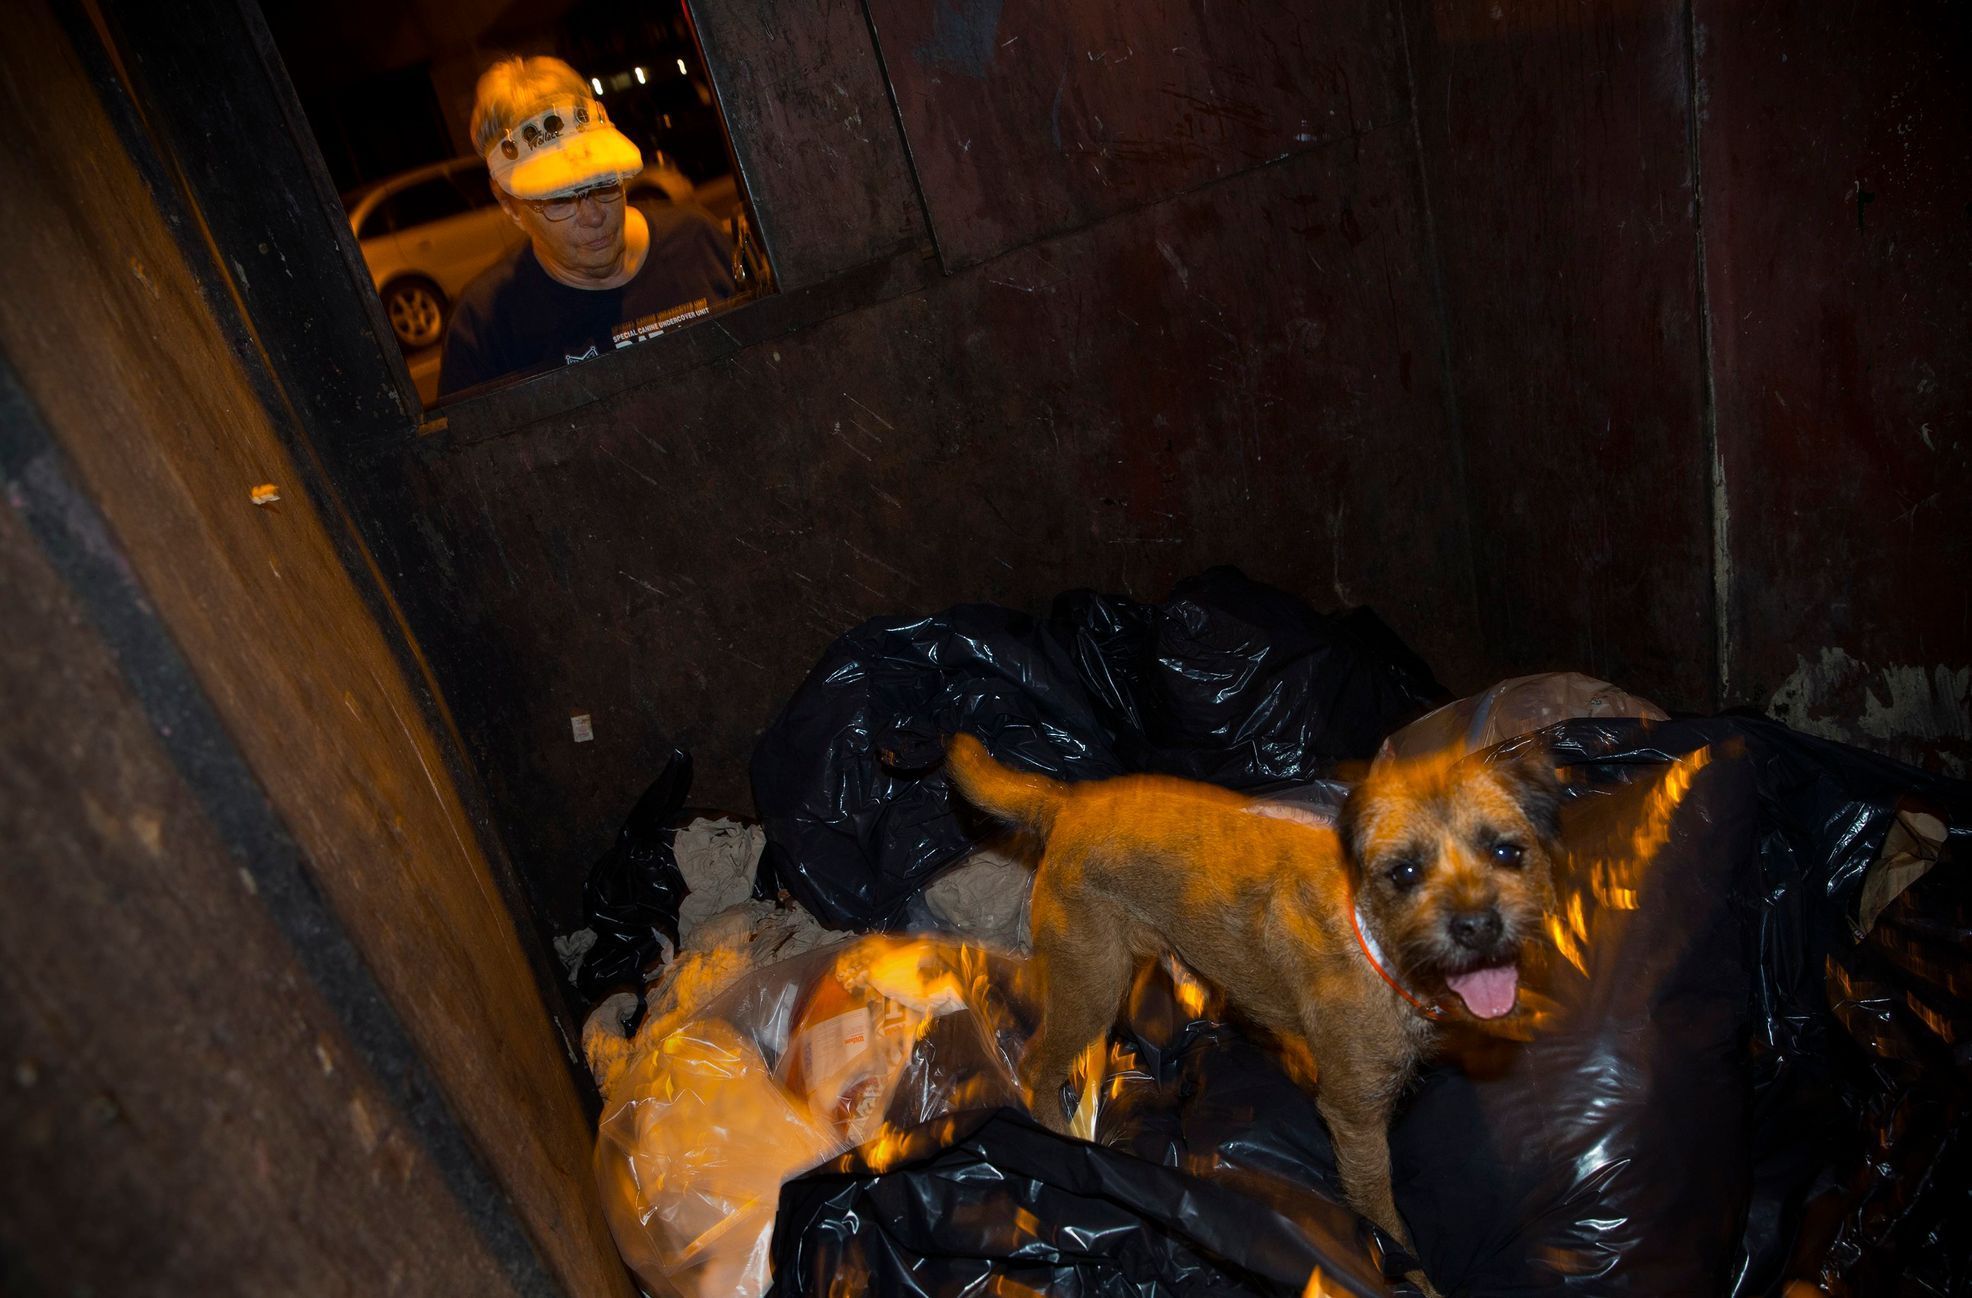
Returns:
[[[1059,783],[968,734],[947,769],[974,807],[1043,840],[1033,878],[1035,1115],[1108,1034],[1140,961],[1173,951],[1234,1010],[1311,1055],[1351,1205],[1410,1245],[1390,1197],[1390,1111],[1436,1024],[1514,1008],[1520,945],[1552,903],[1560,785],[1538,759],[1371,771],[1337,829],[1163,775]]]

